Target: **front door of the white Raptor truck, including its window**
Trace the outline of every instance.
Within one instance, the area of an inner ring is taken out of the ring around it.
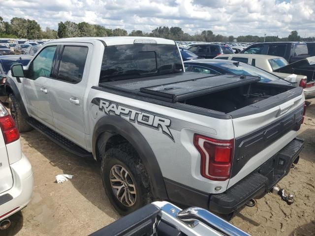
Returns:
[[[57,46],[44,48],[35,59],[32,60],[23,79],[23,87],[27,106],[33,118],[52,127],[53,114],[49,104],[50,91],[47,81],[50,80],[53,60]]]

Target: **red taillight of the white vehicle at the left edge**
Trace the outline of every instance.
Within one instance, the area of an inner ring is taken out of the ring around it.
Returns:
[[[4,138],[4,143],[9,144],[20,138],[20,133],[15,125],[14,119],[0,103],[0,128]]]

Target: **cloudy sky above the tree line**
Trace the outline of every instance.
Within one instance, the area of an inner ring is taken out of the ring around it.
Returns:
[[[315,0],[0,0],[0,15],[36,20],[42,29],[85,21],[128,32],[178,26],[189,34],[315,36]]]

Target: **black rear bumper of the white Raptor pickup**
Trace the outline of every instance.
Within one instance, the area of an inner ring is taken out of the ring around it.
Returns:
[[[252,198],[267,194],[290,170],[304,147],[304,140],[295,138],[277,154],[221,194],[207,194],[165,179],[170,200],[228,214],[242,207]]]

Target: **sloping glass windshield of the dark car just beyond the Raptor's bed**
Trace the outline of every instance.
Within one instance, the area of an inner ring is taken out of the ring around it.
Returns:
[[[255,75],[260,76],[260,82],[270,82],[280,78],[257,67],[242,62],[221,63],[220,67],[235,75]]]

